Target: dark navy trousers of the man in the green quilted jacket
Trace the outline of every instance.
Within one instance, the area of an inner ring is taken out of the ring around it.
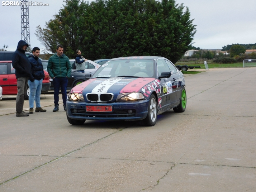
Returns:
[[[67,77],[62,77],[62,78],[53,78],[52,79],[53,86],[54,86],[54,105],[59,105],[59,93],[60,93],[60,88],[61,88],[61,93],[62,93],[62,100],[63,100],[63,105],[66,105],[67,101],[67,82],[68,78]]]

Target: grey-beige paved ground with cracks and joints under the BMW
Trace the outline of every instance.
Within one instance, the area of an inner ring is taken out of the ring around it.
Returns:
[[[0,102],[0,191],[256,191],[256,68],[185,77],[187,108],[157,124],[89,121],[66,112],[15,116]],[[61,105],[60,105],[61,106]],[[28,109],[28,101],[24,108]]]

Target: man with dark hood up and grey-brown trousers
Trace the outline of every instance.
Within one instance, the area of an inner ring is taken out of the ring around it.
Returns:
[[[25,52],[28,43],[20,40],[16,51],[13,53],[12,62],[15,68],[15,76],[17,79],[17,96],[16,96],[16,117],[26,117],[29,113],[23,111],[24,92],[27,90],[28,79],[34,81],[32,76],[31,66]]]

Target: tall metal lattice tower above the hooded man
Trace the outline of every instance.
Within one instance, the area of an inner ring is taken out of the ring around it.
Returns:
[[[21,9],[21,20],[22,20],[22,40],[30,45],[30,34],[29,34],[29,17],[28,17],[28,0],[22,0]]]

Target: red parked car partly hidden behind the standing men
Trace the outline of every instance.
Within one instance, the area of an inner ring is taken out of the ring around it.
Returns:
[[[51,88],[50,77],[47,71],[44,70],[44,80],[41,93],[44,93]],[[12,61],[0,61],[0,86],[3,88],[3,95],[17,94],[17,79]],[[25,99],[29,97],[29,87],[25,91]]]

